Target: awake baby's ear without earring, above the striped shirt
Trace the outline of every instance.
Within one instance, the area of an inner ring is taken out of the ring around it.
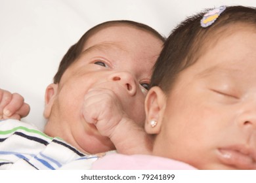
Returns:
[[[45,118],[49,118],[51,115],[51,110],[53,107],[54,99],[58,92],[58,84],[50,84],[47,86],[45,91],[45,110],[43,112],[43,116]]]

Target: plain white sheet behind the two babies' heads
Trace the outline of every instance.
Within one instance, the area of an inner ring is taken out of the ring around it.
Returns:
[[[44,93],[68,48],[107,20],[135,20],[163,35],[186,16],[220,5],[256,7],[255,0],[0,0],[0,88],[22,94],[24,121],[43,129]]]

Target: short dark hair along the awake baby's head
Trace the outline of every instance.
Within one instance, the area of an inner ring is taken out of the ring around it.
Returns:
[[[81,39],[77,43],[75,43],[73,46],[70,47],[68,52],[64,55],[62,60],[60,61],[60,65],[58,67],[58,71],[56,75],[54,76],[53,82],[54,84],[60,82],[60,78],[62,77],[63,73],[74,63],[75,59],[78,58],[78,56],[81,54],[83,50],[83,46],[85,45],[85,42],[93,35],[95,35],[98,31],[106,28],[106,27],[111,27],[114,25],[130,25],[133,26],[137,29],[141,29],[142,31],[146,31],[148,33],[151,33],[154,35],[156,38],[160,39],[161,41],[165,42],[165,37],[161,36],[158,31],[153,29],[152,27],[145,25],[145,24],[140,24],[139,22],[133,22],[130,20],[113,20],[113,21],[108,21],[108,22],[103,22],[102,24],[98,24],[95,27],[92,27],[87,31]]]

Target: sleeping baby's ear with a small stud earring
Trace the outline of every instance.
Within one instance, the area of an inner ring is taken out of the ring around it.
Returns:
[[[165,93],[158,86],[148,91],[145,100],[146,123],[145,130],[149,134],[158,134],[161,131],[163,114],[165,112]]]

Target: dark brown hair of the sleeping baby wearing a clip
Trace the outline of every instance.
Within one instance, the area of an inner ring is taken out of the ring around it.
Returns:
[[[154,66],[151,87],[160,86],[165,93],[169,92],[179,73],[195,63],[209,46],[207,43],[212,42],[209,40],[219,39],[223,36],[220,31],[228,26],[243,23],[256,28],[255,7],[226,7],[212,25],[203,28],[200,20],[207,11],[187,18],[171,32]],[[236,26],[232,30],[236,31]]]

